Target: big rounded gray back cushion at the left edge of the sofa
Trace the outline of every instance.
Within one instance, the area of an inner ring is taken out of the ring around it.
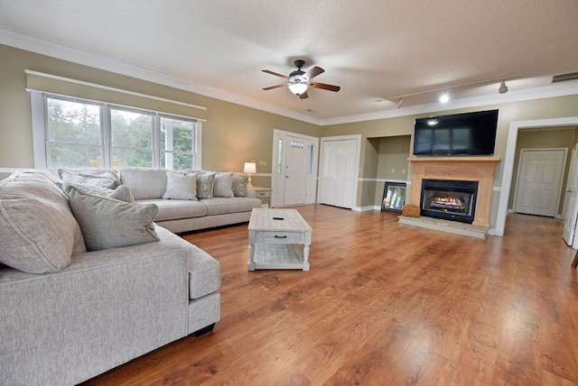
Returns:
[[[66,196],[40,173],[0,182],[0,262],[29,273],[60,271],[86,252]]]

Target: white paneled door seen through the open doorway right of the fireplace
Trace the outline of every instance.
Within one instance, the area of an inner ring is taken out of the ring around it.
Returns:
[[[517,213],[555,216],[560,199],[565,150],[520,152],[517,178]]]

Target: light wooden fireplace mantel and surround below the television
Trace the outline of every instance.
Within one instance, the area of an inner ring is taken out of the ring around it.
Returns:
[[[419,206],[422,179],[478,181],[478,199],[473,225],[489,227],[494,170],[499,157],[409,157],[413,165],[408,204]]]

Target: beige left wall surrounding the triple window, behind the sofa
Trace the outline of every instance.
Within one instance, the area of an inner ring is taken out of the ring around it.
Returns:
[[[270,173],[274,129],[321,135],[321,127],[315,124],[4,45],[0,45],[0,58],[0,168],[32,168],[34,164],[25,69],[207,107],[207,121],[202,125],[202,167],[208,170],[242,171],[245,161],[257,161],[257,173]],[[258,161],[266,161],[266,166]],[[269,187],[270,179],[256,177],[256,183]]]

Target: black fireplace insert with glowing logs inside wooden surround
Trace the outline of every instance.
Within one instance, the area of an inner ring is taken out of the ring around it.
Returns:
[[[422,179],[422,216],[471,224],[475,216],[478,181]]]

